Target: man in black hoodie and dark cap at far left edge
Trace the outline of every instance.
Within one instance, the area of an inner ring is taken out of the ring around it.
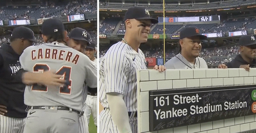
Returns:
[[[31,46],[34,33],[26,27],[13,29],[11,43],[0,48],[0,133],[22,133],[27,106],[23,102],[25,85],[15,78],[20,69],[19,57]]]

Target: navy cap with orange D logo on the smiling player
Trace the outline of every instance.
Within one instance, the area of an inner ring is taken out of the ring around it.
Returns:
[[[199,36],[201,40],[207,39],[207,36],[201,35],[200,31],[196,27],[185,27],[180,31],[180,39]]]

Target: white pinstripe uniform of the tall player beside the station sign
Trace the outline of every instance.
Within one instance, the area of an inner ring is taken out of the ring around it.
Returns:
[[[143,52],[136,52],[126,43],[118,42],[112,45],[99,66],[99,98],[105,107],[99,116],[101,133],[118,133],[116,125],[112,121],[106,93],[117,92],[123,94],[123,100],[129,116],[130,127],[133,133],[137,133],[137,77],[138,69],[147,69]],[[128,113],[129,114],[129,113]]]

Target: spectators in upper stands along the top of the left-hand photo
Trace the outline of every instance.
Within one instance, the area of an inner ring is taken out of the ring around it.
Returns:
[[[0,20],[38,19],[83,13],[97,13],[97,1],[78,0],[58,5],[52,1],[46,1],[41,2],[41,5],[2,7]]]

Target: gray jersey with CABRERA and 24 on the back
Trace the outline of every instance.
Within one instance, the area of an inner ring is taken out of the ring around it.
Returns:
[[[52,42],[27,47],[20,56],[24,70],[55,70],[67,80],[67,87],[26,86],[24,104],[28,106],[66,106],[82,111],[83,97],[89,87],[97,87],[97,67],[86,55],[63,43]]]

